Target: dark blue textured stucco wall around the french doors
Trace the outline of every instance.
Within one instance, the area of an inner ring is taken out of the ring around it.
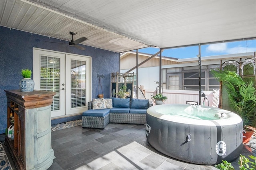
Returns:
[[[33,47],[91,56],[92,98],[98,95],[97,74],[105,75],[105,78],[101,79],[104,97],[110,97],[110,74],[119,70],[118,53],[90,46],[86,46],[86,50],[82,51],[70,47],[67,41],[61,42],[64,44],[46,42],[60,40],[0,26],[0,134],[4,133],[7,127],[7,100],[4,90],[19,89],[19,81],[22,79],[20,70],[33,69]]]

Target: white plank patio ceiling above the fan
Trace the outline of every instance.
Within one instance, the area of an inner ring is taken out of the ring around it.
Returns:
[[[256,37],[256,0],[0,0],[0,26],[115,52]]]

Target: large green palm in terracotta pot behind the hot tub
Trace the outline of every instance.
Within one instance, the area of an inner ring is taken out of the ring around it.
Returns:
[[[228,94],[228,106],[234,113],[240,115],[244,126],[244,143],[251,138],[253,130],[249,129],[256,118],[256,90],[252,82],[245,82],[233,71],[214,71],[214,77],[222,81]],[[247,135],[250,136],[247,137]]]

